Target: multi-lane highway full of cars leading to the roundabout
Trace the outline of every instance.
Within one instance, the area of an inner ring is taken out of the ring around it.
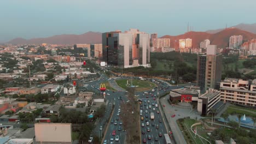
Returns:
[[[100,84],[106,81],[113,81],[113,79],[109,79],[106,75],[100,74],[101,77],[94,81],[85,82],[88,84],[86,87],[87,90],[93,92],[99,92]],[[127,79],[119,77],[119,79]],[[164,122],[162,121],[161,113],[159,112],[159,101],[157,98],[159,95],[169,92],[171,89],[181,88],[183,86],[169,86],[167,83],[162,81],[153,81],[156,83],[155,91],[143,91],[136,92],[137,99],[141,99],[141,109],[142,112],[139,112],[140,119],[143,117],[143,120],[139,120],[140,130],[141,130],[141,142],[142,143],[164,143],[164,134],[167,133]],[[83,89],[83,88],[82,88]],[[146,93],[145,93],[146,92]],[[118,116],[118,113],[122,113],[121,105],[126,103],[128,100],[126,97],[125,91],[106,91],[106,113],[103,118],[101,118],[95,129],[94,135],[98,135],[102,138],[103,143],[125,143],[126,131],[123,129],[122,120]],[[121,97],[121,98],[120,98]],[[114,106],[113,115],[111,115],[112,105]],[[156,105],[158,107],[156,107]],[[151,108],[149,108],[151,107]],[[147,111],[146,111],[147,110]],[[139,110],[140,111],[140,110]],[[154,119],[150,119],[150,112],[154,113]],[[110,118],[110,123],[108,124],[108,118]],[[148,122],[148,125],[147,125]],[[142,123],[144,127],[142,127]],[[102,127],[102,130],[101,130]],[[138,128],[139,129],[139,128]],[[149,129],[149,131],[147,130]],[[104,139],[102,136],[104,135]],[[161,137],[162,135],[162,137]],[[149,140],[151,137],[151,140]],[[115,139],[119,138],[119,139]],[[174,143],[174,141],[173,141]]]

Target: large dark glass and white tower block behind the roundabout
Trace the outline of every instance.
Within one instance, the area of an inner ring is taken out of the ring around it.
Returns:
[[[130,31],[102,34],[103,59],[108,65],[129,68],[142,65],[149,67],[149,34]]]

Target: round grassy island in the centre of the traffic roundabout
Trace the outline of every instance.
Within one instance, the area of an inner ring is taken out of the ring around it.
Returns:
[[[118,86],[121,88],[127,89],[128,87],[126,86],[127,84],[127,79],[125,80],[116,80]],[[131,83],[131,80],[128,80],[128,83]],[[143,80],[132,80],[132,85],[133,86],[138,86],[135,87],[135,91],[148,91],[149,89],[153,89],[156,87],[155,83],[149,82],[149,81],[143,81]]]

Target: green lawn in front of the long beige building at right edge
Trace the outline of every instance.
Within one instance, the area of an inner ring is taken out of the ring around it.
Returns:
[[[236,108],[236,109],[232,109],[232,108]],[[229,115],[241,114],[241,115],[256,117],[255,113],[248,112],[248,111],[245,111],[245,110],[250,110],[250,111],[255,112],[255,110],[253,110],[253,109],[231,105],[231,106],[228,107],[228,109],[226,109],[226,111],[224,113],[228,113]]]

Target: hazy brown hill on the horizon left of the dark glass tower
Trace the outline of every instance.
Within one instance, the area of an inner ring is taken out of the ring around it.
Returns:
[[[87,32],[80,35],[75,34],[62,34],[54,35],[48,38],[34,38],[34,39],[22,39],[16,38],[9,42],[8,44],[97,44],[101,43],[102,35],[99,32]]]

